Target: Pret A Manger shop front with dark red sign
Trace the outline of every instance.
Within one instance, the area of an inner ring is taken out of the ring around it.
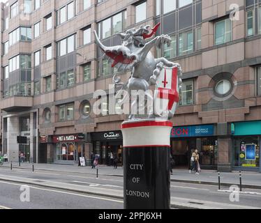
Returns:
[[[79,157],[84,157],[84,134],[52,136],[54,163],[77,164]]]

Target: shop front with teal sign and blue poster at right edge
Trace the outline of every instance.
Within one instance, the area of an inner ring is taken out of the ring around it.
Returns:
[[[261,171],[261,121],[231,124],[233,169]]]

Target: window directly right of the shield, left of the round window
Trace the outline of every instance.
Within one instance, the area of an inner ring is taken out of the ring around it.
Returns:
[[[194,103],[194,82],[193,80],[187,80],[182,83],[182,87],[179,93],[179,105],[193,105]]]

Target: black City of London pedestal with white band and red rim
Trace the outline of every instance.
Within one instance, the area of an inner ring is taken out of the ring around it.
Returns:
[[[124,136],[124,208],[170,209],[170,121],[129,121]]]

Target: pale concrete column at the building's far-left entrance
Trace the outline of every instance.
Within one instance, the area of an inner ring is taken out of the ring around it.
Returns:
[[[9,161],[19,162],[19,144],[17,144],[17,135],[19,135],[19,118],[7,118],[7,153]]]

